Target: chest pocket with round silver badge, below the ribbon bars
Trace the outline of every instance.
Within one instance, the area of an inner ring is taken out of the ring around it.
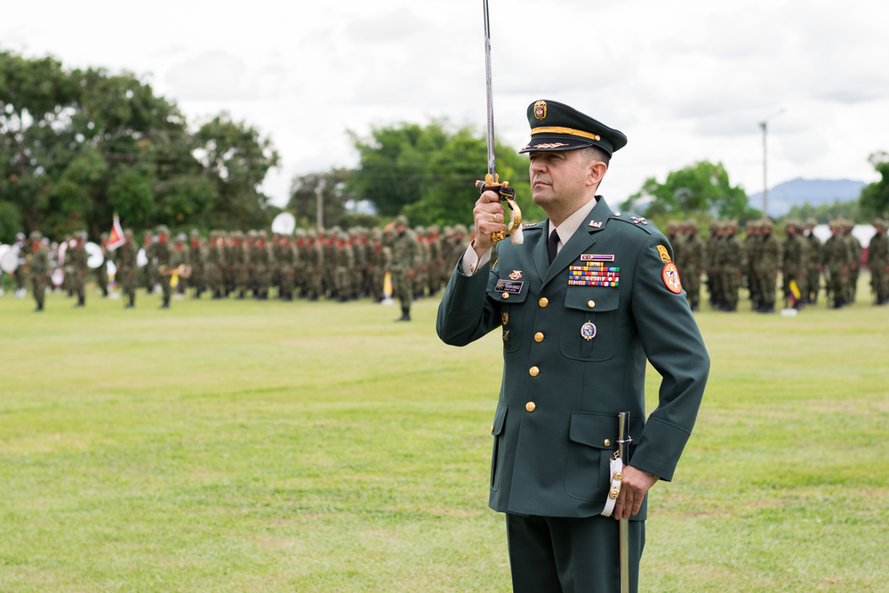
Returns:
[[[573,360],[601,361],[614,354],[614,316],[621,301],[620,288],[569,286],[559,349]]]

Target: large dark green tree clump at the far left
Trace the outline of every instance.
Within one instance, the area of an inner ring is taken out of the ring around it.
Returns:
[[[133,228],[267,227],[276,209],[259,186],[277,163],[270,140],[226,114],[191,132],[130,73],[0,52],[0,203],[17,214],[4,229],[98,239],[114,212]]]

